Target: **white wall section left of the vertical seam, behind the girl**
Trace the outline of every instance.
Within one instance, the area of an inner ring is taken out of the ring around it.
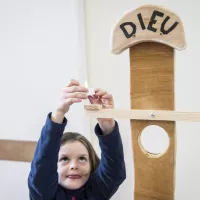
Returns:
[[[0,139],[38,140],[69,79],[84,83],[83,17],[82,0],[0,0]],[[90,137],[81,104],[67,117]],[[0,162],[1,200],[28,199],[29,170]]]

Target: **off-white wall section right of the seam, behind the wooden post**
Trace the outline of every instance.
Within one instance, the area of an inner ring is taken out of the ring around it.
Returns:
[[[175,104],[179,111],[200,111],[199,1],[181,0],[86,0],[87,63],[90,87],[102,87],[113,93],[115,107],[130,109],[128,51],[121,55],[110,53],[113,25],[124,13],[143,4],[165,6],[179,15],[184,23],[187,49],[176,51]],[[128,120],[118,120],[124,143],[127,180],[112,198],[133,199],[134,164],[132,162],[131,132]],[[94,125],[95,121],[93,122]],[[176,200],[198,200],[200,196],[200,124],[177,122]],[[93,142],[98,149],[96,138]]]

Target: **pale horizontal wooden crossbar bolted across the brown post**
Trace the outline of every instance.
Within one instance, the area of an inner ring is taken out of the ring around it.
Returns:
[[[86,115],[95,118],[120,118],[136,120],[158,121],[187,121],[200,122],[200,112],[179,112],[173,110],[119,110],[119,109],[92,109],[85,107]]]

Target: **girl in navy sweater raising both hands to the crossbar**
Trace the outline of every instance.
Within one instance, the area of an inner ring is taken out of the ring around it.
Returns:
[[[87,92],[72,80],[62,90],[56,111],[48,114],[28,177],[31,200],[108,200],[125,180],[122,140],[114,119],[97,119],[101,160],[84,136],[63,134],[65,114],[73,103],[89,98],[92,104],[114,107],[112,95],[106,91],[96,89],[89,97]]]

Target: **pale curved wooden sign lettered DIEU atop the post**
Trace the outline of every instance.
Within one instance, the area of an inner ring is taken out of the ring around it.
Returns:
[[[138,15],[141,15],[144,28],[142,28]],[[125,26],[128,34],[135,29],[134,35],[130,38],[125,37],[120,28],[127,22],[135,26],[134,28],[130,24]],[[171,32],[162,33],[162,31],[169,30],[175,23],[178,25]],[[164,25],[164,30],[162,30],[162,25]],[[120,54],[131,46],[147,41],[159,42],[177,50],[186,48],[184,27],[179,16],[164,7],[155,5],[143,5],[125,13],[113,27],[111,39],[111,52],[114,54]]]

